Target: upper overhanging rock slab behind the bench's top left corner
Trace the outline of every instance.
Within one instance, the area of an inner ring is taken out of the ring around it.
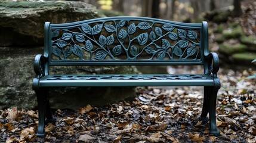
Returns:
[[[0,46],[42,45],[44,23],[69,23],[97,18],[94,5],[84,2],[0,2]],[[28,40],[29,39],[29,40]]]

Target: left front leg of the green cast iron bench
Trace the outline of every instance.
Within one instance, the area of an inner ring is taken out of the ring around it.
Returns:
[[[36,91],[36,97],[38,100],[38,133],[36,133],[36,135],[40,138],[44,138],[45,108],[44,108],[44,94],[41,89]]]

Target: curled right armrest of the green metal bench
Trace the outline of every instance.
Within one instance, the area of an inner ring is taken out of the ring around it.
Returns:
[[[217,77],[217,72],[219,70],[219,60],[218,55],[215,52],[210,52],[205,56],[205,74],[212,77]]]

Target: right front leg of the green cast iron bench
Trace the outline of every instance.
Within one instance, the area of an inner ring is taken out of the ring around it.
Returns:
[[[210,97],[209,106],[209,121],[210,121],[210,134],[214,136],[219,136],[220,131],[216,125],[216,99],[217,99],[218,88],[212,88],[212,94]]]

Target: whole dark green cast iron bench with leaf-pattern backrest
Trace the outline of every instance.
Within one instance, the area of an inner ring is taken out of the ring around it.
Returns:
[[[218,136],[218,55],[208,50],[208,24],[146,17],[106,17],[45,23],[44,55],[35,57],[33,90],[39,110],[38,136],[53,122],[49,88],[60,86],[204,86],[200,120]],[[202,66],[202,74],[50,74],[53,66]]]

